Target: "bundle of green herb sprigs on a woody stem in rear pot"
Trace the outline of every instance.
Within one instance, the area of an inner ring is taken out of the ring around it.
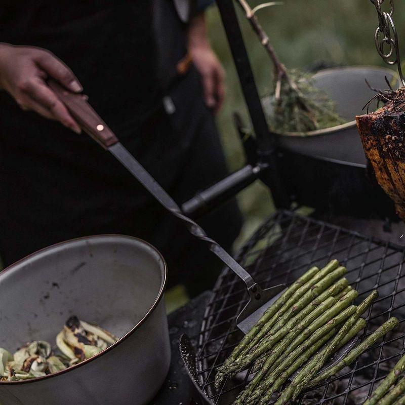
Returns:
[[[274,66],[273,129],[279,132],[307,132],[343,124],[344,120],[334,112],[334,103],[313,87],[308,74],[288,71],[278,60],[269,37],[255,15],[255,11],[261,7],[252,10],[246,0],[238,0],[238,3]]]

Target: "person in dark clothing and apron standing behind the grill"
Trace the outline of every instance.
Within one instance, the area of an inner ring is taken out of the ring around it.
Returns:
[[[212,287],[221,264],[113,156],[80,134],[47,85],[52,77],[72,92],[84,90],[178,203],[224,177],[213,118],[224,97],[223,74],[203,14],[185,24],[173,0],[159,1],[166,10],[160,20],[157,0],[61,0],[58,7],[49,0],[6,0],[0,9],[0,256],[6,266],[56,242],[119,233],[156,246],[172,285],[186,282],[191,295]],[[167,41],[156,37],[163,23],[163,37],[177,37],[169,44],[175,49],[164,49]],[[194,64],[181,69],[187,55]],[[200,224],[231,249],[241,225],[235,201]]]

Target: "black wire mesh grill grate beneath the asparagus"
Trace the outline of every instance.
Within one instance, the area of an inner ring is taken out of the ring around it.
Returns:
[[[356,303],[373,289],[379,298],[369,309],[368,325],[360,341],[390,316],[399,326],[384,340],[363,353],[349,367],[320,387],[301,395],[302,404],[361,404],[405,351],[405,248],[363,236],[297,214],[280,211],[270,217],[237,256],[237,260],[263,287],[290,284],[312,265],[321,267],[338,259],[347,278],[359,292]],[[214,388],[216,368],[242,338],[236,316],[248,301],[244,284],[225,269],[214,287],[197,348],[197,372],[201,386],[212,403],[228,405],[248,381],[240,373]]]

